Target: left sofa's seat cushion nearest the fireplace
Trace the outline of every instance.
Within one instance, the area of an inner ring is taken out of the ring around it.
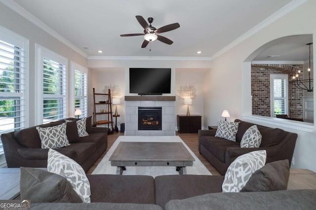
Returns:
[[[70,144],[66,148],[73,149],[77,152],[77,155],[78,155],[77,163],[79,163],[81,165],[84,161],[86,161],[96,151],[97,145],[96,145],[96,143],[93,143],[93,142],[81,143],[81,141],[79,141],[79,142]]]

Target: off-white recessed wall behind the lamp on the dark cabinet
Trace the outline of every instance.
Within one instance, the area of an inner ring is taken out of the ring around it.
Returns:
[[[189,110],[190,114],[198,114],[202,116],[202,127],[204,124],[203,78],[205,71],[207,70],[209,69],[176,69],[176,115],[187,113],[187,105],[184,105],[184,100],[179,96],[180,86],[193,85],[196,89],[197,96],[195,99],[192,99],[192,105],[189,105]]]

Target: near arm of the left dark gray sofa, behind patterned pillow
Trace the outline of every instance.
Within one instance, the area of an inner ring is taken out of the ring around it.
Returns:
[[[78,154],[75,150],[68,148],[59,148],[55,150],[77,162]],[[19,148],[17,151],[21,157],[28,160],[47,160],[48,158],[48,149]]]

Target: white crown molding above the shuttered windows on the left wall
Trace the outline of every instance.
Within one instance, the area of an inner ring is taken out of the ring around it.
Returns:
[[[87,58],[87,54],[83,52],[81,49],[79,49],[77,46],[75,46],[73,43],[68,41],[66,38],[64,38],[62,35],[58,34],[56,31],[48,27],[45,23],[43,23],[40,19],[32,15],[30,12],[28,12],[26,9],[24,9],[22,6],[20,6],[18,3],[14,2],[13,0],[0,0],[1,3],[33,23],[34,25],[38,26],[43,31],[47,32],[49,35],[52,35],[57,40],[62,42],[63,44],[67,45],[71,49],[75,50],[77,53],[82,55],[83,57]]]

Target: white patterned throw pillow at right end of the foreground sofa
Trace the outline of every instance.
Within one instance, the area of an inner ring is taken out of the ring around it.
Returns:
[[[258,150],[237,157],[228,167],[222,184],[223,192],[240,192],[250,176],[266,164],[266,150]]]

